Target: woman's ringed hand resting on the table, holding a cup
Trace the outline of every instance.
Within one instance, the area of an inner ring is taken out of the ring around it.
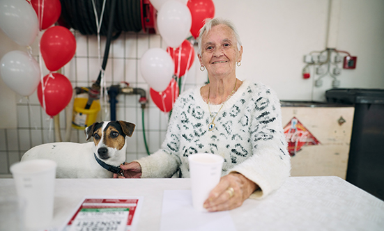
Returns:
[[[230,210],[243,205],[243,201],[259,186],[240,173],[229,173],[220,179],[219,184],[210,191],[204,208],[209,212]]]

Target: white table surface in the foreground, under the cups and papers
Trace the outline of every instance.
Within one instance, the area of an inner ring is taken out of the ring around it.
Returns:
[[[188,190],[190,179],[56,179],[54,221],[62,225],[85,196],[144,196],[137,230],[159,230],[164,190]],[[0,179],[0,196],[15,194]],[[339,177],[290,177],[263,200],[230,211],[241,230],[384,230],[384,202]]]

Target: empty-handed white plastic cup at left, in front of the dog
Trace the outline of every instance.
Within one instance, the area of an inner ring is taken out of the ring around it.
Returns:
[[[47,228],[53,218],[56,162],[48,159],[22,161],[10,166],[17,196],[24,200],[27,230]]]

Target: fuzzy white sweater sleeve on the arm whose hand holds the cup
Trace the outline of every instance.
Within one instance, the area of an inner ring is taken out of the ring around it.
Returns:
[[[275,93],[263,88],[249,109],[254,113],[249,128],[252,157],[234,166],[230,172],[241,173],[259,185],[250,198],[264,198],[289,177],[291,161],[282,129],[280,102]]]

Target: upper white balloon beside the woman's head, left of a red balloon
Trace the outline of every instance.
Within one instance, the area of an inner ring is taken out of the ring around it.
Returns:
[[[158,12],[158,31],[169,47],[179,47],[190,33],[191,26],[190,9],[180,1],[166,1]]]

